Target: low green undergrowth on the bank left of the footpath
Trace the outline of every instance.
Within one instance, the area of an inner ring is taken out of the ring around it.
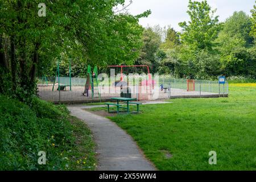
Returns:
[[[30,108],[22,102],[0,95],[0,117],[1,170],[72,170],[78,168],[76,159],[85,155],[88,160],[81,169],[94,169],[93,143],[89,130],[83,127],[84,138],[81,140],[87,143],[87,147],[81,154],[74,136],[77,134],[76,125],[68,121],[65,106],[53,106],[34,98]],[[76,123],[81,126],[82,122]],[[46,165],[38,164],[39,151],[46,152]]]

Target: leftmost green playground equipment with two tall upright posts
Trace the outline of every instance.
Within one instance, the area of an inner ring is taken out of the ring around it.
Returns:
[[[60,77],[60,63],[57,63],[56,77],[53,82],[52,91],[54,91],[55,84],[58,84],[57,90],[66,90],[66,87],[69,87],[69,90],[72,91],[71,84],[71,61],[69,61],[69,77]]]

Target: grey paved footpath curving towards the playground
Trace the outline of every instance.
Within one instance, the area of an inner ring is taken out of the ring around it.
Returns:
[[[170,102],[155,102],[164,104]],[[149,104],[149,103],[144,103]],[[144,158],[134,140],[110,119],[82,110],[99,106],[68,106],[71,115],[89,126],[97,143],[96,152],[100,171],[154,171],[156,168]]]

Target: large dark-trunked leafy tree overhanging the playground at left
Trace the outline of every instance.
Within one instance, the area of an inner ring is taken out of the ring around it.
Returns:
[[[61,53],[67,60],[98,65],[132,64],[137,59],[143,32],[138,20],[150,11],[137,16],[115,13],[113,7],[125,0],[46,0],[46,16],[39,17],[39,3],[0,0],[0,74],[11,80],[11,92],[5,93],[30,102],[36,74],[46,73]],[[1,79],[0,87],[6,86]]]

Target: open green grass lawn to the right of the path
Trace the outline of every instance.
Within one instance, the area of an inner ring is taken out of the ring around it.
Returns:
[[[110,119],[160,170],[256,170],[256,86],[229,91],[229,98],[176,99]],[[217,165],[209,165],[209,151]]]

